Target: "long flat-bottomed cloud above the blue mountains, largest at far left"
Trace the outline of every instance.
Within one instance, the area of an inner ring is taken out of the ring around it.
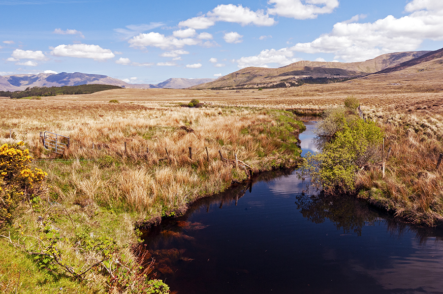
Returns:
[[[90,58],[95,60],[106,60],[115,57],[114,53],[109,49],[88,44],[59,45],[51,51],[51,54],[60,57]]]

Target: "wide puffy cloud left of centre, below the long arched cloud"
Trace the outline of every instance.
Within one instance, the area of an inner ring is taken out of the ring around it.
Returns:
[[[197,45],[200,40],[192,38],[177,39],[173,36],[165,36],[158,32],[141,33],[131,38],[128,43],[130,47],[146,48],[146,46],[158,47],[160,49],[182,48],[185,45]]]

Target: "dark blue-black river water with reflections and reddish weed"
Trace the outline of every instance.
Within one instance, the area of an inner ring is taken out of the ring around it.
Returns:
[[[179,294],[443,293],[442,229],[317,194],[270,173],[202,200],[142,236],[157,277]]]

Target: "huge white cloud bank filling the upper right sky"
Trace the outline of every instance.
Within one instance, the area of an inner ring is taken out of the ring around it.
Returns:
[[[425,39],[443,40],[442,3],[440,0],[413,0],[405,8],[411,14],[401,18],[388,15],[373,23],[337,23],[330,33],[309,43],[298,43],[290,50],[334,53],[334,59],[348,62],[390,52],[413,51]]]

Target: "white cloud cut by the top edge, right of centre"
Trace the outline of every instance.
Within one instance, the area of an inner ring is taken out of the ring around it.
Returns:
[[[268,8],[269,14],[295,19],[313,19],[318,14],[331,13],[339,6],[338,0],[269,0],[274,8]]]

